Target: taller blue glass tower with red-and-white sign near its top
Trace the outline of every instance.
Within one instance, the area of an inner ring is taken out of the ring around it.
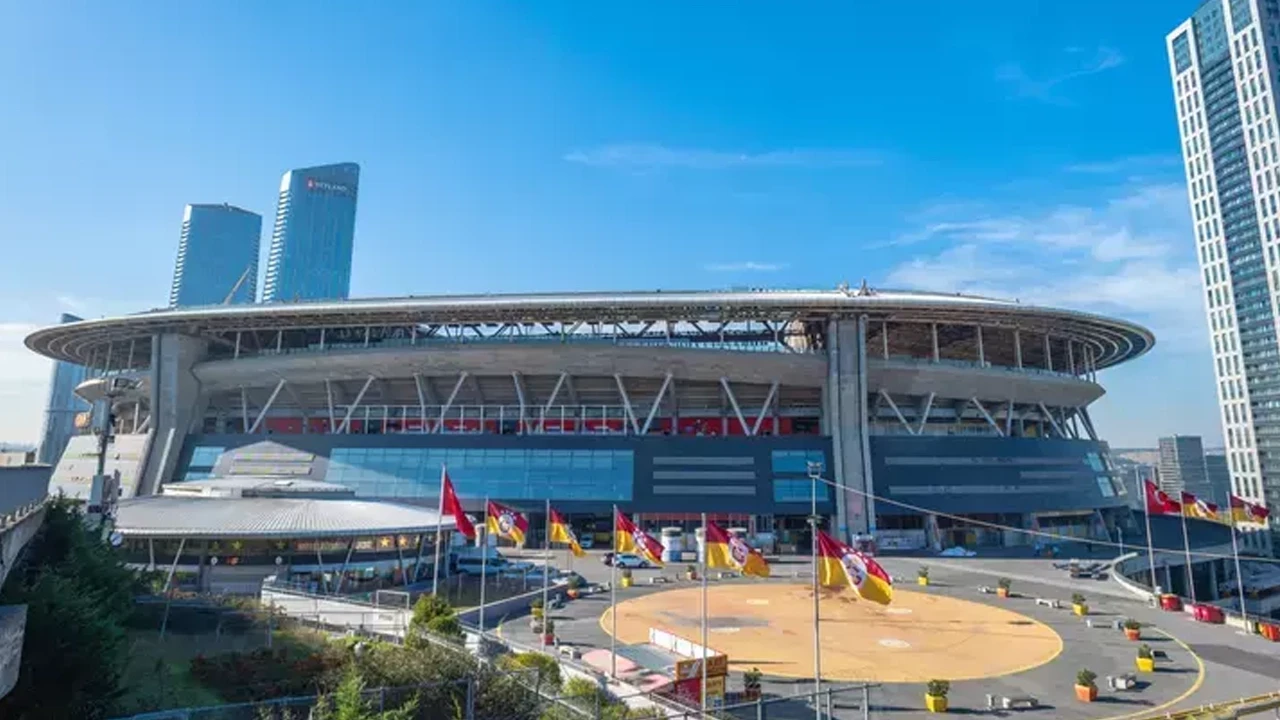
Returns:
[[[355,163],[284,173],[262,302],[351,295],[358,190],[360,165]]]

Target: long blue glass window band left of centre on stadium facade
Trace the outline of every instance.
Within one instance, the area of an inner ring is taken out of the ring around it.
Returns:
[[[631,500],[630,450],[492,450],[340,447],[325,479],[365,497],[428,498],[440,488],[440,466],[461,497],[495,500]]]

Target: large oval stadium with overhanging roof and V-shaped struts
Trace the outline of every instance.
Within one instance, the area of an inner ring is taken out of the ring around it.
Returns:
[[[1129,493],[1089,419],[1137,324],[840,287],[474,295],[156,310],[40,329],[113,409],[124,497],[269,477],[434,507],[549,498],[580,536],[707,511],[805,542],[818,511],[901,548],[1023,544],[966,520],[1105,538]],[[83,495],[95,438],[54,489]],[[940,516],[942,514],[942,516]],[[603,539],[603,538],[602,538]]]

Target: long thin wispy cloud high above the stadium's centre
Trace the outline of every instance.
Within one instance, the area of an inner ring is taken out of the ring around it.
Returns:
[[[657,170],[681,168],[724,170],[735,168],[859,168],[879,165],[879,152],[859,149],[788,149],[739,152],[654,143],[604,145],[573,150],[564,160],[595,168]]]

